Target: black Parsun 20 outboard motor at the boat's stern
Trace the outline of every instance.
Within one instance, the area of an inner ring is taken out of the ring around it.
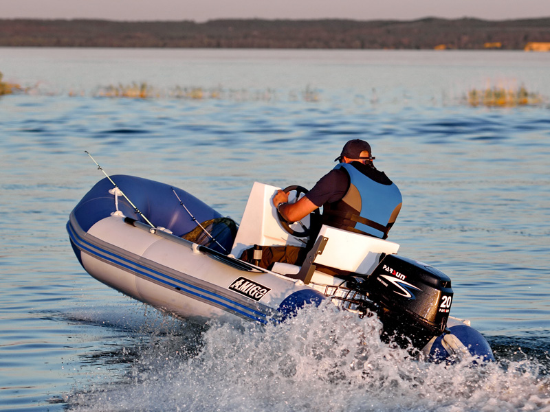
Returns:
[[[401,347],[412,341],[421,349],[445,332],[453,292],[450,278],[436,268],[386,255],[361,286],[377,306],[387,341]]]

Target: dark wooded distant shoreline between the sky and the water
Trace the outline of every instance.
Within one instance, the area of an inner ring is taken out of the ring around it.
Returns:
[[[108,21],[0,19],[0,47],[245,49],[525,49],[550,43],[550,17],[435,19]]]

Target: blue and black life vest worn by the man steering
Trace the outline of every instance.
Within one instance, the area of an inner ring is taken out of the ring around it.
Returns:
[[[401,210],[401,192],[384,172],[362,166],[336,165],[335,169],[342,168],[349,175],[349,188],[340,201],[323,205],[322,223],[386,239]]]

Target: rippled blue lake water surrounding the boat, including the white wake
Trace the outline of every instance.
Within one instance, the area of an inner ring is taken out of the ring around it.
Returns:
[[[487,84],[550,97],[549,54],[0,49],[0,70],[32,87],[0,98],[0,409],[550,411],[549,106],[463,102]],[[158,97],[97,97],[131,82]],[[102,178],[84,150],[240,220],[254,181],[311,187],[355,137],[404,195],[391,240],[450,275],[452,314],[498,363],[413,362],[329,309],[193,325],[92,279],[69,246]]]

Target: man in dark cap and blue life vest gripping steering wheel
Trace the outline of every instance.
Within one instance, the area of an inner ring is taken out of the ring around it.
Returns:
[[[401,210],[401,192],[384,172],[373,165],[371,146],[364,140],[350,140],[335,161],[336,168],[325,174],[305,196],[288,203],[279,190],[273,198],[283,218],[296,222],[323,206],[322,224],[386,239]]]

